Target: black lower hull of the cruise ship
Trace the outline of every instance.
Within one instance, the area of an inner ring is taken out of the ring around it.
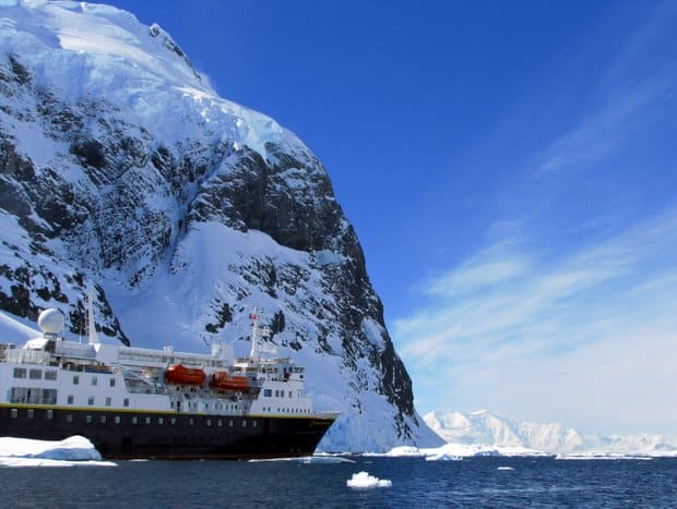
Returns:
[[[108,459],[239,460],[310,456],[333,422],[333,419],[309,416],[0,408],[0,436],[62,440],[82,435]]]

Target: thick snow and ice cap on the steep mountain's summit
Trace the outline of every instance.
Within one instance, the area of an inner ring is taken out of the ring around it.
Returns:
[[[105,97],[130,123],[166,140],[185,140],[209,124],[264,157],[268,142],[300,145],[270,117],[218,97],[162,28],[154,25],[153,36],[126,11],[70,1],[2,2],[0,20],[0,47],[29,62],[39,85],[71,102]]]

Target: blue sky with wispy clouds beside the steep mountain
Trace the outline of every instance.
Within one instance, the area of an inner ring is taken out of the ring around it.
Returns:
[[[112,3],[323,161],[421,413],[677,436],[677,2]]]

